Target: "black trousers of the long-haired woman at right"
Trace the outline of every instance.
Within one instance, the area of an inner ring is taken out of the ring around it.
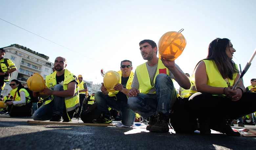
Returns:
[[[241,99],[232,101],[227,97],[209,93],[195,93],[189,98],[192,112],[198,119],[237,119],[256,111],[256,93],[245,92]]]

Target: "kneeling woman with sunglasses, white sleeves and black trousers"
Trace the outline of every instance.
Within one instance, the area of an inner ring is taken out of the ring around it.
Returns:
[[[29,93],[22,84],[14,79],[10,84],[12,90],[10,94],[13,96],[13,101],[6,102],[8,105],[8,111],[10,112],[11,117],[31,117],[32,116],[32,102]]]

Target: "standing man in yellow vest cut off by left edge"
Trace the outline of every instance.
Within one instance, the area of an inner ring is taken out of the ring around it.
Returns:
[[[0,53],[2,57],[0,58],[0,95],[2,93],[2,89],[4,87],[4,83],[10,81],[11,75],[10,73],[17,70],[15,64],[11,61],[11,59],[4,58],[5,49],[0,48]]]

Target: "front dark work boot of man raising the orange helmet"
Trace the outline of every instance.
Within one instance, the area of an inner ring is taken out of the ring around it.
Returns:
[[[169,117],[159,113],[157,123],[152,125],[150,132],[169,132]]]

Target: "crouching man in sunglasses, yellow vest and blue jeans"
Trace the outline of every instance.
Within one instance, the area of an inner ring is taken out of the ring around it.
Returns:
[[[129,60],[121,61],[121,67],[118,73],[121,76],[121,81],[118,83],[114,90],[116,92],[108,92],[104,87],[104,84],[100,87],[101,91],[95,93],[95,101],[101,113],[99,119],[93,120],[94,123],[112,123],[110,111],[108,108],[112,108],[122,113],[122,124],[125,126],[132,126],[135,120],[135,113],[129,108],[127,104],[127,94],[131,88],[134,73],[132,72],[132,62]]]

